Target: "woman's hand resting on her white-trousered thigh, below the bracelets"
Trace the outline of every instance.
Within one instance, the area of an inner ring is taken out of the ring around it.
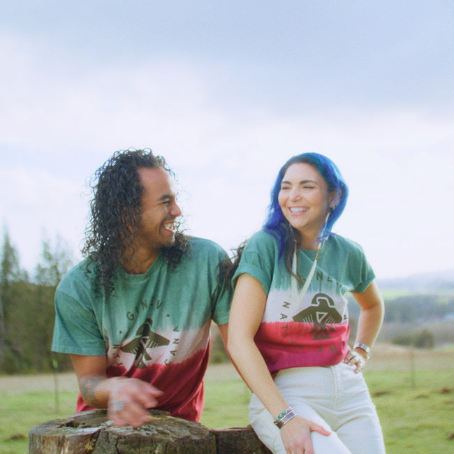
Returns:
[[[314,454],[311,432],[318,432],[322,435],[330,435],[314,421],[295,416],[281,427],[281,438],[288,454]]]

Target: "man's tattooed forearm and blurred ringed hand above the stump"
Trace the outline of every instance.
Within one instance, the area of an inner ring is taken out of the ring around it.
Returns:
[[[82,399],[91,407],[107,408],[115,425],[140,427],[149,420],[147,409],[158,405],[162,391],[139,379],[106,376],[105,356],[71,355]]]

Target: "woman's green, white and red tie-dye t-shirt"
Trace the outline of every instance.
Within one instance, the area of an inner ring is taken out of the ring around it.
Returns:
[[[316,251],[298,250],[298,272],[308,276]],[[247,242],[233,281],[249,274],[268,295],[255,342],[270,372],[340,363],[349,340],[346,293],[362,293],[375,275],[363,249],[340,235],[323,243],[307,293],[292,292],[277,240],[264,230]]]

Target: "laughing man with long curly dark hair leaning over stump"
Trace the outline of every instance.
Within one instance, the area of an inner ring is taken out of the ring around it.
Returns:
[[[161,156],[116,152],[95,176],[87,258],[55,295],[52,350],[71,355],[77,411],[107,408],[115,425],[133,427],[148,408],[198,421],[212,320],[226,344],[226,253],[178,231]]]

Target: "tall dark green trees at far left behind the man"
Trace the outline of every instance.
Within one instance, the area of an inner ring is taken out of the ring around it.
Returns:
[[[20,267],[8,232],[3,234],[0,263],[0,373],[49,372],[71,368],[68,355],[50,351],[54,293],[72,265],[72,254],[57,238],[43,241],[33,274]]]

